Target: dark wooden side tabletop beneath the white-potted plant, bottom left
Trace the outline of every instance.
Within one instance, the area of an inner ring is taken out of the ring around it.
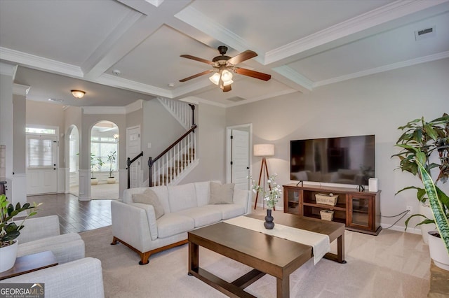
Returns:
[[[0,273],[0,280],[56,265],[58,265],[58,261],[55,259],[51,250],[42,253],[33,253],[32,255],[24,255],[15,259],[13,268]]]

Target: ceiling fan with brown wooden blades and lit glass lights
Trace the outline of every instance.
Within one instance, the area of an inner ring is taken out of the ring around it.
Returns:
[[[272,76],[267,73],[260,73],[258,71],[236,67],[236,64],[256,57],[256,52],[253,52],[252,50],[246,50],[245,52],[241,52],[239,55],[229,57],[225,55],[227,52],[227,46],[220,45],[217,49],[218,52],[220,52],[220,56],[213,58],[212,61],[194,57],[192,55],[181,55],[180,57],[183,58],[209,64],[213,67],[213,69],[209,69],[208,71],[203,71],[201,73],[196,73],[195,75],[189,76],[188,78],[183,78],[182,80],[180,80],[180,82],[192,80],[192,78],[198,78],[199,76],[215,72],[213,76],[209,78],[209,80],[215,85],[219,85],[220,89],[223,90],[223,92],[228,92],[231,91],[231,84],[234,83],[234,81],[232,80],[232,72],[239,73],[243,76],[258,78],[259,80],[269,80],[270,78],[272,78]]]

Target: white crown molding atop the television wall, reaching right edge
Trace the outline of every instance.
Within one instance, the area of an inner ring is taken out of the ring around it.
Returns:
[[[365,71],[349,73],[348,75],[338,76],[335,78],[330,78],[328,80],[321,80],[319,82],[315,82],[314,87],[320,87],[320,86],[324,86],[324,85],[342,82],[344,80],[351,80],[353,78],[360,78],[362,76],[369,76],[369,75],[372,75],[375,73],[382,73],[384,71],[392,71],[394,69],[401,69],[403,67],[412,66],[415,64],[421,64],[421,63],[425,63],[425,62],[431,62],[431,61],[445,59],[445,58],[449,58],[449,51],[439,52],[434,55],[419,57],[419,58],[415,58],[415,59],[406,60],[403,62],[397,62],[397,63],[385,65],[385,66],[380,66],[380,67],[376,67],[375,69],[367,69]]]

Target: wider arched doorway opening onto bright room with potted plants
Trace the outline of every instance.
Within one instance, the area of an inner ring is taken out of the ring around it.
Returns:
[[[119,127],[97,122],[91,129],[91,198],[119,198]]]

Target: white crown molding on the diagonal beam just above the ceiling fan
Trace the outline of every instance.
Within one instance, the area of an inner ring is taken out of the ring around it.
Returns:
[[[241,38],[241,36],[223,27],[221,24],[215,22],[213,18],[204,15],[192,6],[187,6],[179,13],[177,13],[175,17],[178,20],[181,20],[182,22],[185,22],[186,24],[189,24],[190,26],[198,29],[199,31],[202,31],[208,36],[213,36],[218,41],[221,41],[222,43],[225,43],[225,45],[228,45],[229,47],[234,48],[235,50],[238,50],[240,52],[248,50],[248,48],[251,48],[258,54],[264,52],[255,48],[253,45],[248,44],[245,39]],[[258,55],[257,57],[254,57],[253,60],[262,64],[262,62],[264,61],[264,56]]]

